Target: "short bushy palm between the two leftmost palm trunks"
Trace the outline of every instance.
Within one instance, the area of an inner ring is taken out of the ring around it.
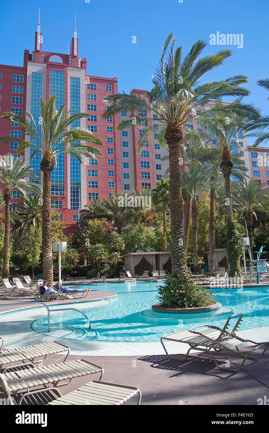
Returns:
[[[19,212],[16,212],[12,229],[17,235],[28,233],[33,227],[35,231],[42,227],[42,197],[40,194],[27,194],[23,203],[19,203]]]

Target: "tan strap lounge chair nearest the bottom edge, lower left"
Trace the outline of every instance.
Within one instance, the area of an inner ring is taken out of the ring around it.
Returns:
[[[3,377],[0,377],[0,387],[3,389],[3,397],[9,401],[9,404],[16,404]],[[47,404],[51,406],[120,405],[136,394],[138,394],[137,404],[139,405],[141,402],[140,389],[115,383],[91,381],[64,396],[58,388],[30,391],[22,395],[18,404],[44,405],[46,404],[44,401],[48,401]]]

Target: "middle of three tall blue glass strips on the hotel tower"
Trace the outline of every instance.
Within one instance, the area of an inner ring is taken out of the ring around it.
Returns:
[[[56,95],[55,108],[64,105],[64,78],[62,71],[50,71],[50,97]],[[56,143],[58,145],[58,143]],[[59,150],[64,149],[64,144]],[[57,168],[51,172],[51,195],[64,195],[64,152],[58,154]]]

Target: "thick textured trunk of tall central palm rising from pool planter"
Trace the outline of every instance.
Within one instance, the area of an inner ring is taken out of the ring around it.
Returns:
[[[170,214],[171,214],[171,260],[172,274],[182,274],[187,278],[188,268],[183,228],[183,201],[181,191],[181,165],[179,146],[183,140],[181,126],[168,125],[165,132],[169,150],[170,169]]]

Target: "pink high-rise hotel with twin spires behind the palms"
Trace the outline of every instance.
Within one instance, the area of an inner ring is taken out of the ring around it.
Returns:
[[[133,126],[126,128],[125,131],[116,131],[116,125],[130,118],[133,113],[122,112],[120,116],[102,119],[102,113],[106,109],[103,97],[118,92],[118,80],[116,77],[87,75],[86,66],[86,58],[80,58],[78,54],[76,30],[70,44],[70,55],[46,52],[42,51],[39,24],[35,33],[35,50],[31,54],[29,50],[25,50],[23,66],[0,65],[0,112],[12,111],[22,114],[30,111],[38,121],[40,98],[47,100],[52,94],[56,94],[56,108],[65,105],[65,110],[73,107],[74,113],[89,113],[87,118],[77,121],[74,126],[86,127],[104,143],[101,148],[103,156],[97,158],[97,161],[86,158],[85,162],[80,164],[75,158],[61,154],[58,167],[51,173],[52,204],[61,211],[67,233],[75,231],[78,211],[90,200],[109,198],[112,191],[131,193],[137,187],[140,190],[154,188],[156,181],[165,177],[168,168],[168,162],[161,161],[167,154],[167,149],[160,148],[156,135],[149,137],[148,147],[138,154],[137,144],[143,132],[142,127]],[[140,94],[145,92],[139,89],[134,91]],[[210,107],[210,102],[205,104],[205,108]],[[152,115],[158,125],[154,113],[146,115]],[[190,119],[186,125],[187,130],[188,128],[198,129],[199,125]],[[7,120],[0,119],[0,134],[14,137],[9,145],[0,143],[0,154],[11,152],[16,155],[16,138],[24,138],[21,128],[13,122],[10,124]],[[217,137],[212,136],[211,146],[214,147],[216,143]],[[256,178],[256,165],[253,171],[243,131],[238,135],[238,143],[239,149],[234,149],[234,152],[241,152],[245,165]],[[29,160],[31,152],[32,149],[24,152],[26,160]],[[31,165],[38,174],[38,178],[33,181],[38,184],[42,184],[40,162],[40,154],[31,160]],[[19,192],[13,191],[12,194],[10,207],[16,209],[16,204],[20,201]]]

